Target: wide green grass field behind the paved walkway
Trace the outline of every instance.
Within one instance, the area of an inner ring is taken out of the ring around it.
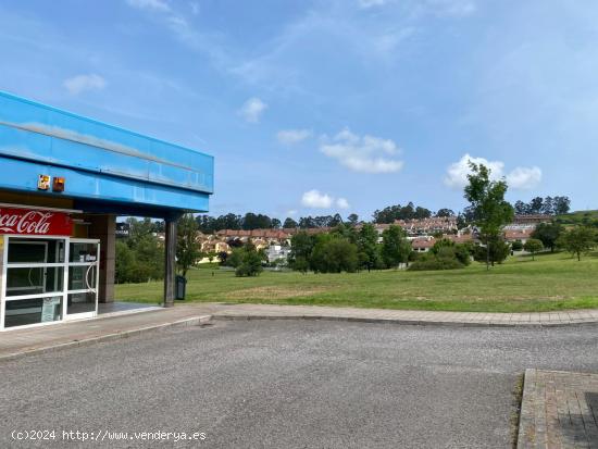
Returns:
[[[260,302],[382,309],[476,312],[539,312],[598,308],[598,254],[581,262],[570,254],[510,258],[486,272],[464,270],[382,271],[357,274],[264,272],[235,277],[231,271],[199,269],[188,274],[187,300]],[[116,298],[160,302],[163,284],[116,286]]]

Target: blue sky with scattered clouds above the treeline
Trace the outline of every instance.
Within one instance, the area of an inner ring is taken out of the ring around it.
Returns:
[[[598,209],[594,0],[3,0],[0,89],[215,158],[210,214]]]

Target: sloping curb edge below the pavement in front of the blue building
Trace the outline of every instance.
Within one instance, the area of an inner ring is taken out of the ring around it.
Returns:
[[[62,342],[58,345],[50,345],[43,348],[36,348],[36,349],[30,349],[25,351],[13,352],[5,356],[0,356],[0,363],[22,359],[27,356],[37,356],[37,354],[57,352],[63,349],[78,348],[78,347],[96,345],[99,342],[120,340],[123,338],[135,337],[138,335],[148,334],[157,330],[163,330],[163,329],[173,328],[173,327],[204,326],[209,324],[211,321],[212,321],[212,315],[197,315],[197,316],[191,316],[188,319],[172,321],[167,323],[160,323],[151,326],[137,327],[135,329],[100,335],[98,337],[86,338],[83,340],[73,340],[73,341]]]

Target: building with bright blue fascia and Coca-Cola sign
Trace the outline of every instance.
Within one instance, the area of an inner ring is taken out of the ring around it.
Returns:
[[[95,316],[114,299],[119,215],[207,212],[213,158],[0,91],[0,330]]]

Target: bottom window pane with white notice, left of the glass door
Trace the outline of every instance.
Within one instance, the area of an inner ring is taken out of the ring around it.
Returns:
[[[62,319],[62,297],[7,301],[4,327],[47,323]]]

